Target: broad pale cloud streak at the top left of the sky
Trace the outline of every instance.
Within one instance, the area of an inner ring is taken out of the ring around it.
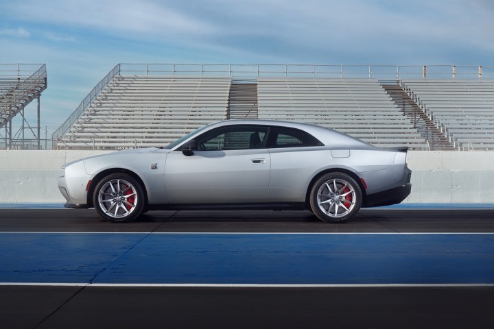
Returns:
[[[40,5],[37,0],[26,0],[12,1],[5,7],[26,21],[82,27],[124,38],[132,34],[179,36],[214,32],[211,25],[192,19],[186,13],[172,10],[161,1],[53,0]]]

